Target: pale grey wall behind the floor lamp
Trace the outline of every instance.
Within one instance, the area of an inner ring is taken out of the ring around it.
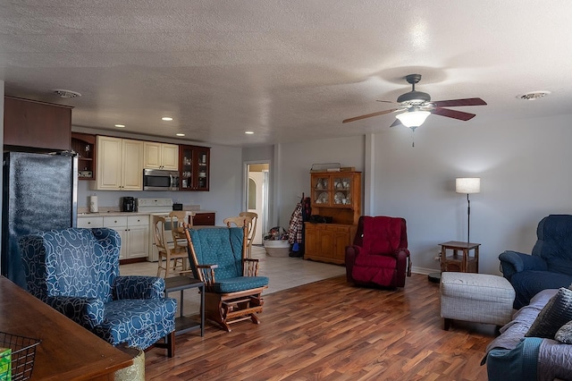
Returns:
[[[467,196],[456,177],[481,177],[471,199],[471,241],[482,243],[480,272],[500,274],[503,250],[530,252],[536,225],[572,213],[570,116],[509,123],[433,126],[374,137],[374,214],[408,221],[416,267],[436,268],[438,243],[467,240]]]

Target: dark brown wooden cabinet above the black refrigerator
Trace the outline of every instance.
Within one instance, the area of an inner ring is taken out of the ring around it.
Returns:
[[[71,107],[4,97],[4,146],[68,150]]]

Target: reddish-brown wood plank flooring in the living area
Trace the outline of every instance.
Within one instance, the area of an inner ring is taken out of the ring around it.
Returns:
[[[486,380],[494,326],[442,329],[439,284],[414,274],[397,291],[357,288],[345,276],[265,296],[262,323],[226,333],[207,323],[151,349],[147,380]]]

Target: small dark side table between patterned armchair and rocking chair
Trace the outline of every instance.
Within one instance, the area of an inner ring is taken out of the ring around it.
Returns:
[[[182,292],[190,288],[198,288],[200,292],[200,323],[195,318],[183,316],[183,294]],[[175,336],[200,328],[200,335],[205,335],[205,284],[198,279],[189,276],[179,275],[164,279],[164,292],[181,292],[181,305],[179,309],[181,316],[175,319]]]

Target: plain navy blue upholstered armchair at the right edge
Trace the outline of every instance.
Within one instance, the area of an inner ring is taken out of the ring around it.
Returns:
[[[514,309],[528,305],[538,292],[572,284],[572,216],[544,217],[536,236],[532,255],[508,250],[499,256],[502,275],[517,294]]]

